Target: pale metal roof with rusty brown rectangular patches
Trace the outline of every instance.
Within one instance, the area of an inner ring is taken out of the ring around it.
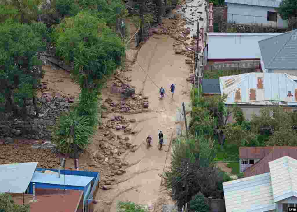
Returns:
[[[286,73],[245,73],[220,77],[220,87],[228,95],[225,103],[297,105],[297,83]]]

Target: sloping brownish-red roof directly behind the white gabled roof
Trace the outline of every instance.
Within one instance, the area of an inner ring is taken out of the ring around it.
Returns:
[[[268,162],[274,161],[283,156],[289,156],[291,158],[297,159],[297,147],[273,147],[269,155],[265,156],[263,159],[244,171],[244,177],[270,172]]]

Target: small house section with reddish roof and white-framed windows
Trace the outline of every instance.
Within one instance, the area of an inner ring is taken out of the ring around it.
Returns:
[[[244,172],[262,158],[267,156],[273,147],[239,147],[239,171]]]

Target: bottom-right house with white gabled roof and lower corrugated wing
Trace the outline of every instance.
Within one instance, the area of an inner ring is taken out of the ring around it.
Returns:
[[[226,212],[282,212],[296,207],[297,160],[284,156],[268,166],[267,173],[223,183]]]

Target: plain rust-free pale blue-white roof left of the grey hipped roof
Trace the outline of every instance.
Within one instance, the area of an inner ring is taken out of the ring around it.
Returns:
[[[280,34],[208,33],[207,59],[260,59],[258,41]]]

